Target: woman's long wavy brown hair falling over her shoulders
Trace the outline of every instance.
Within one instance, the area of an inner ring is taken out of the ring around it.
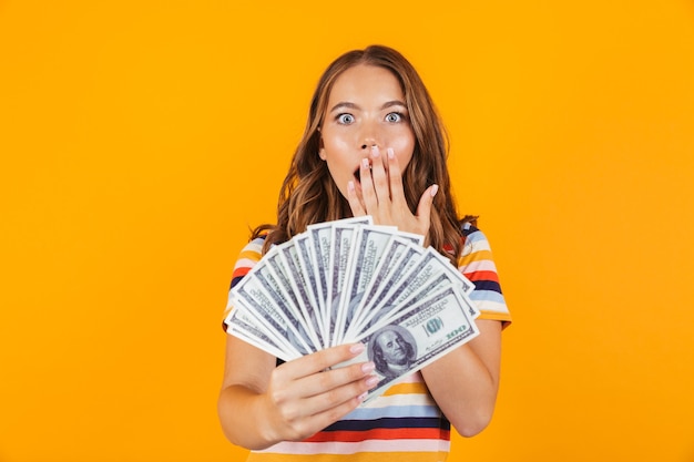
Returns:
[[[423,191],[431,184],[439,185],[431,208],[429,243],[456,265],[462,249],[461,224],[474,217],[458,218],[446,164],[448,136],[427,88],[402,54],[384,45],[349,51],[337,58],[323,73],[310,101],[304,136],[279,192],[277,224],[258,226],[253,230],[252,238],[267,234],[263,247],[265,253],[272,244],[290,239],[310,224],[353,215],[349,203],[337,188],[318,151],[320,125],[333,85],[343,72],[358,64],[387,69],[400,82],[415,133],[415,151],[402,172],[405,197],[415,214]]]

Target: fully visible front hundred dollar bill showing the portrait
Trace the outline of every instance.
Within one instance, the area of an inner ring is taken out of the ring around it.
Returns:
[[[379,381],[369,391],[368,401],[401,376],[420,370],[478,335],[477,325],[460,298],[460,289],[447,287],[375,332],[356,339],[367,348],[345,365],[363,361],[376,365],[374,373]]]

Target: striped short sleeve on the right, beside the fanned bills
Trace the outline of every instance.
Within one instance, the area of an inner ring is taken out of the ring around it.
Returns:
[[[507,327],[511,324],[511,314],[501,291],[489,240],[480,229],[469,223],[465,225],[462,233],[465,244],[458,258],[458,269],[474,285],[470,299],[480,310],[478,319],[499,320]]]

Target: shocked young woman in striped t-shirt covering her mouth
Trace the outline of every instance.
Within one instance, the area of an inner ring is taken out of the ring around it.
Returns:
[[[277,366],[276,358],[227,336],[220,419],[229,441],[253,450],[249,461],[441,461],[451,423],[466,437],[489,423],[510,315],[486,237],[472,217],[459,219],[447,154],[433,103],[397,51],[350,51],[320,78],[282,186],[277,224],[255,229],[232,285],[272,245],[308,225],[370,215],[375,224],[423,235],[425,246],[474,283],[470,298],[481,311],[480,335],[364,405],[376,366],[329,369],[358,356],[363,345]]]

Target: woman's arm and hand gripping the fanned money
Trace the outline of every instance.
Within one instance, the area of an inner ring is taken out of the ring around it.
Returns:
[[[370,362],[326,370],[363,350],[360,343],[344,345],[275,367],[273,356],[227,336],[217,403],[224,434],[234,444],[264,449],[323,430],[376,384]]]

